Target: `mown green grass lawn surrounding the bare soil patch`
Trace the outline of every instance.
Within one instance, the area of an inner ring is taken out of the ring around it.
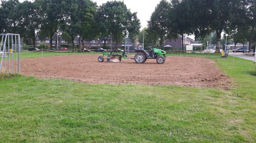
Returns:
[[[232,87],[89,84],[1,74],[0,142],[255,142],[253,61],[182,56],[213,59],[232,78]]]

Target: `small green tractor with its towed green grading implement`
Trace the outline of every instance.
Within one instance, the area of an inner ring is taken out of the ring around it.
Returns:
[[[107,61],[121,61],[121,59],[134,59],[136,63],[144,63],[147,59],[156,59],[158,64],[163,64],[166,58],[166,52],[161,49],[154,48],[154,43],[152,41],[152,49],[147,53],[144,49],[136,49],[134,58],[128,58],[126,51],[123,51],[122,54],[115,54],[112,52],[103,52],[103,56],[98,57],[99,62],[104,61],[104,55],[107,56]]]

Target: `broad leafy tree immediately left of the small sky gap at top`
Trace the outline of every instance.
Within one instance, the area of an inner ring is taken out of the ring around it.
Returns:
[[[95,25],[92,21],[96,12],[96,3],[90,0],[64,0],[62,5],[62,31],[69,34],[74,49],[74,38],[78,34],[81,34],[83,38],[87,34],[92,35],[92,33],[86,33],[85,31],[90,30]]]

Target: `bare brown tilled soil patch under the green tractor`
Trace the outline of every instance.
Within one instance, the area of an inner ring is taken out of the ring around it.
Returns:
[[[147,60],[137,64],[123,59],[117,63],[98,62],[98,55],[51,56],[21,60],[21,73],[39,78],[65,78],[87,83],[135,83],[143,85],[182,85],[228,89],[230,80],[201,57],[168,56],[164,64]]]

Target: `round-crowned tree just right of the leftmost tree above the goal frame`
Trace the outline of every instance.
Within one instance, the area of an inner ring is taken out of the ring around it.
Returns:
[[[14,12],[19,15],[18,27],[22,37],[30,38],[36,49],[36,37],[42,25],[42,11],[36,2],[18,3]]]

